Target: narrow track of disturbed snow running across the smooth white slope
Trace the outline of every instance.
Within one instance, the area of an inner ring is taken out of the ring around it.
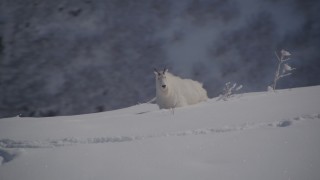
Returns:
[[[264,123],[245,123],[234,127],[225,128],[204,128],[194,129],[179,132],[169,132],[161,134],[151,134],[142,136],[114,136],[114,137],[95,137],[95,138],[63,138],[56,140],[45,140],[45,141],[16,141],[11,139],[0,139],[0,148],[54,148],[63,147],[77,144],[101,144],[101,143],[120,143],[120,142],[131,142],[139,141],[151,138],[165,138],[165,137],[177,137],[177,136],[190,136],[190,135],[207,135],[207,134],[219,134],[227,132],[243,131],[248,129],[256,128],[278,128],[288,127],[298,121],[307,119],[320,119],[320,114],[304,115],[295,117],[292,119],[284,119],[275,122],[264,122]],[[1,154],[0,154],[1,156]]]

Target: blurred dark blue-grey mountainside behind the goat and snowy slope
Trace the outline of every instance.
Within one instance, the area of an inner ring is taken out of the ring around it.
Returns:
[[[317,0],[1,0],[0,117],[107,111],[155,96],[153,68],[266,91],[320,84]]]

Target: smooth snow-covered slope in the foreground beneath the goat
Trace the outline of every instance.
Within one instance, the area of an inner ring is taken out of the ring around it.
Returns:
[[[1,180],[318,180],[320,86],[0,119]]]

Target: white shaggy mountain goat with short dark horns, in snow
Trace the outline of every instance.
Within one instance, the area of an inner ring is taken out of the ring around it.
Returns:
[[[160,109],[196,104],[208,99],[202,84],[191,79],[181,79],[164,68],[162,72],[154,69],[156,75],[156,102]]]

